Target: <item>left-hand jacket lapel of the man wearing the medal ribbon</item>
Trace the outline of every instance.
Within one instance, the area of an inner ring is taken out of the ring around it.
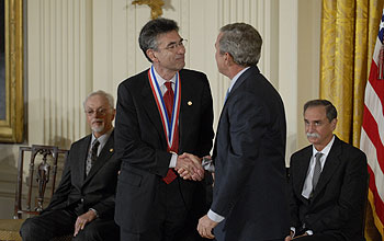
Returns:
[[[158,134],[161,136],[160,139],[162,140],[162,145],[167,148],[168,146],[167,137],[162,127],[160,113],[159,113],[159,110],[157,108],[153,90],[150,89],[148,71],[146,71],[146,74],[145,74],[145,83],[142,90],[142,96],[143,96],[143,106],[149,117],[149,120],[154,124]]]

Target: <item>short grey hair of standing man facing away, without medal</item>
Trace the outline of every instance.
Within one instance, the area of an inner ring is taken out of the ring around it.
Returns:
[[[256,66],[261,55],[262,38],[259,32],[246,23],[227,24],[221,28],[219,53],[228,53],[237,65]]]

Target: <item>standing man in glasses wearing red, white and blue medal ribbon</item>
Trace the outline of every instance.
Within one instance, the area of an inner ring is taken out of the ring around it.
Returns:
[[[199,215],[206,211],[203,168],[183,153],[210,154],[211,89],[204,73],[183,69],[185,41],[178,31],[172,20],[149,21],[139,45],[153,66],[118,87],[115,220],[122,240],[193,240]],[[177,175],[180,168],[192,181]]]

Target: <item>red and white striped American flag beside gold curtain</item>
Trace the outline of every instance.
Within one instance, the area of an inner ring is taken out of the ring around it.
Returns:
[[[364,116],[360,149],[368,157],[370,173],[369,199],[377,230],[384,239],[384,10],[373,53],[370,78],[364,96]]]

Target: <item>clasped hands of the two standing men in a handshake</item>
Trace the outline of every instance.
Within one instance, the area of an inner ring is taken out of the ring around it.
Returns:
[[[184,180],[202,181],[204,179],[201,160],[194,154],[183,153],[179,156],[174,170]]]

